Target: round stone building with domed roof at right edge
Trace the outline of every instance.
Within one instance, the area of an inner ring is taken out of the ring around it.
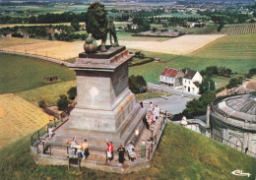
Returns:
[[[211,105],[211,131],[215,140],[256,155],[256,94],[226,95]]]

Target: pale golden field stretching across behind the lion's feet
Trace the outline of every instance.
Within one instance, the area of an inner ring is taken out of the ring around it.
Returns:
[[[124,44],[129,49],[186,55],[222,36],[223,35],[183,35],[176,38],[165,38],[168,39],[165,41],[158,41],[162,39],[156,37],[131,37],[130,33],[123,33],[120,37],[119,44]],[[9,41],[9,39],[11,39],[11,41]],[[16,42],[16,39],[18,42]],[[63,42],[30,38],[2,38],[0,42],[1,49],[5,51],[37,54],[59,60],[78,57],[78,54],[84,51],[84,41]],[[97,42],[100,44],[100,41]],[[107,43],[109,44],[109,41],[107,41]]]

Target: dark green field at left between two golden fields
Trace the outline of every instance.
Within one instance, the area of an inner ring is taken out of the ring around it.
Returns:
[[[54,84],[44,82],[43,78],[47,77],[58,77],[61,82],[66,82],[75,79],[75,72],[65,66],[29,57],[0,54],[0,93],[32,90]]]

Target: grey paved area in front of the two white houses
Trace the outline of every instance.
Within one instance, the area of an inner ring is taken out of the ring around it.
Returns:
[[[186,108],[186,103],[192,100],[191,98],[181,97],[179,95],[172,94],[168,96],[168,99],[161,97],[144,100],[143,103],[146,107],[150,107],[150,102],[159,105],[160,109],[166,110],[171,114],[178,114]]]

